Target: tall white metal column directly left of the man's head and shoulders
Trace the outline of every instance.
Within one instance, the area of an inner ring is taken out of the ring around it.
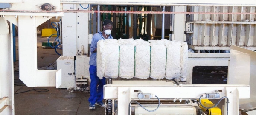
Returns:
[[[88,4],[83,4],[87,8]],[[65,10],[90,10],[90,5],[87,9],[81,8],[79,4],[64,4]],[[62,17],[62,43],[63,56],[76,56],[77,52],[83,52],[82,55],[88,54],[89,45],[89,13],[64,13]]]

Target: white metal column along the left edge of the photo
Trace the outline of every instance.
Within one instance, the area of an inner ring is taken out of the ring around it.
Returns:
[[[12,38],[5,18],[0,17],[0,25],[0,115],[14,115]]]

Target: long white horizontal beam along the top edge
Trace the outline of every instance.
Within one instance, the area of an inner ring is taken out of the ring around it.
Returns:
[[[256,6],[254,0],[61,0],[61,3],[159,5],[159,6]]]

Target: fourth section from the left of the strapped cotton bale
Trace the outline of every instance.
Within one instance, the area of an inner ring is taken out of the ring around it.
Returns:
[[[151,46],[151,73],[150,77],[154,79],[162,79],[166,72],[166,46]]]

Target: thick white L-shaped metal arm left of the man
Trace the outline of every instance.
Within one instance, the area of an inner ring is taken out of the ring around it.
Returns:
[[[37,69],[36,26],[41,16],[18,16],[20,80],[28,87],[56,86],[57,70]]]

